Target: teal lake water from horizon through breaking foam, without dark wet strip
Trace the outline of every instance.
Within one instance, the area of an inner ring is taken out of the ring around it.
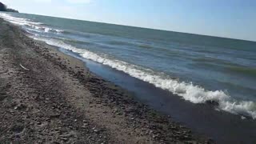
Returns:
[[[32,38],[186,101],[256,118],[256,42],[32,14],[0,14]]]

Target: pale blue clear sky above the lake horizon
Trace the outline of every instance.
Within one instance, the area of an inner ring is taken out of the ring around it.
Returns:
[[[256,41],[256,0],[0,0],[21,13]]]

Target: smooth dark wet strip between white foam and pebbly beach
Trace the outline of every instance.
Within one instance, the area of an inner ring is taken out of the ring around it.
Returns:
[[[78,54],[59,48],[65,54],[79,58],[94,74],[118,86],[122,86],[139,101],[146,103],[163,114],[170,115],[175,122],[182,122],[194,132],[206,134],[217,143],[255,143],[256,122],[253,119],[242,119],[239,115],[214,110],[214,106],[194,104],[184,101],[168,90],[162,90],[153,84],[130,77],[119,70],[104,66],[98,62],[82,58]]]

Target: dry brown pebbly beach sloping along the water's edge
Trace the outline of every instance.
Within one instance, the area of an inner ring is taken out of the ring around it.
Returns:
[[[0,143],[214,143],[0,18]]]

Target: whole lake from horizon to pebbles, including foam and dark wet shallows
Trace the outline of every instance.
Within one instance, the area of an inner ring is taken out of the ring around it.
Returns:
[[[256,118],[256,42],[33,14],[0,17],[198,131],[255,142],[255,122],[246,119]]]

